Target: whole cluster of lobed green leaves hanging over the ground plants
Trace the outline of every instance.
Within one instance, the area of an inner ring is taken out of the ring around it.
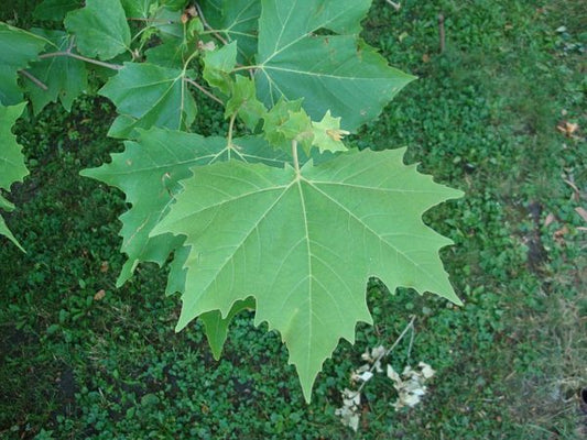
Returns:
[[[403,152],[341,142],[413,79],[359,36],[370,0],[76,6],[36,9],[64,15],[66,33],[2,24],[2,102],[20,97],[19,72],[35,113],[57,99],[69,110],[88,76],[106,81],[98,94],[118,112],[108,134],[133,141],[83,175],[132,205],[118,286],[175,254],[177,329],[203,316],[218,355],[230,318],[254,308],[257,324],[282,334],[308,402],[340,338],[371,322],[370,276],[459,302],[438,256],[450,241],[421,217],[460,193],[403,165]],[[226,135],[191,133],[202,102],[192,88],[225,107]]]

